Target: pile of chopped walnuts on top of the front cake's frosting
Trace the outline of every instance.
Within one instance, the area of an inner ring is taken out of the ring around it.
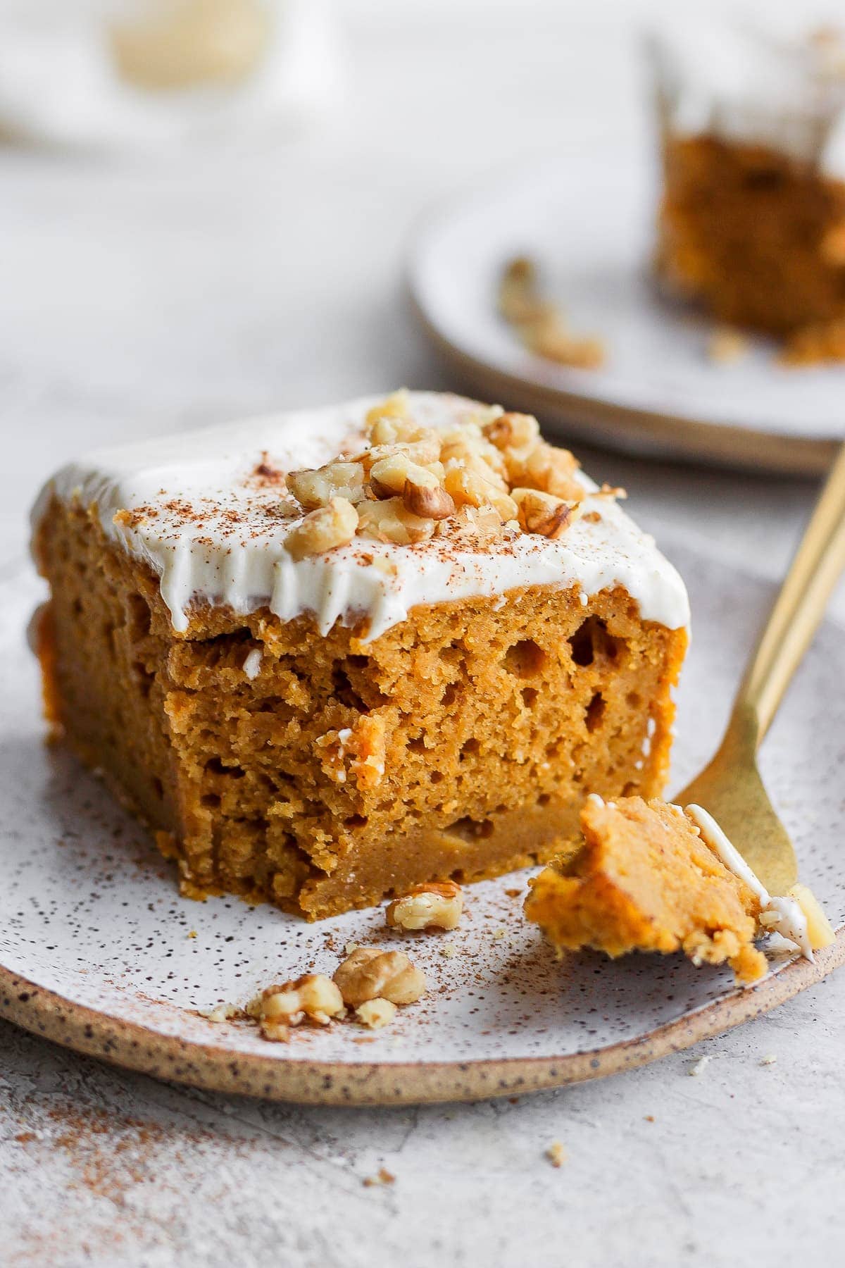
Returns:
[[[414,421],[408,393],[397,392],[367,412],[366,429],[360,453],[288,476],[307,512],[286,538],[294,559],[355,536],[414,545],[469,535],[479,548],[521,531],[555,540],[585,496],[578,462],[541,440],[527,413],[479,407],[438,431]]]

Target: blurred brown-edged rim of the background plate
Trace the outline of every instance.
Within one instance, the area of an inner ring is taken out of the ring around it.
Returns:
[[[549,160],[522,164],[517,175],[519,179],[540,179],[557,166],[557,162]],[[514,172],[511,172],[511,180],[513,179]],[[483,190],[495,193],[507,180],[507,172],[499,172],[498,179],[484,181]],[[402,290],[413,318],[441,361],[459,375],[467,389],[481,399],[500,398],[513,408],[531,407],[538,417],[565,426],[571,436],[587,444],[597,441],[631,453],[637,441],[645,440],[651,455],[670,460],[680,458],[709,465],[799,477],[820,476],[827,470],[841,444],[836,437],[788,436],[761,427],[713,422],[698,415],[674,415],[669,411],[626,406],[600,396],[585,394],[576,387],[555,387],[527,374],[505,370],[469,351],[460,342],[454,342],[431,313],[418,279],[432,237],[442,224],[470,204],[480,202],[480,193],[479,189],[465,189],[457,195],[441,199],[419,217],[405,242],[402,270]]]

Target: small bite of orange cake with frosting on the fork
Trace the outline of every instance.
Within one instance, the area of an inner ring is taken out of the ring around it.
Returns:
[[[834,933],[812,893],[768,894],[716,820],[641,796],[584,800],[583,844],[531,883],[526,915],[561,950],[609,956],[683,951],[693,964],[730,964],[755,981],[766,959],[754,946],[777,932],[812,960]]]

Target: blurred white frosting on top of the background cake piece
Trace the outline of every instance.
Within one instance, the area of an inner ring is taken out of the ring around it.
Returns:
[[[649,52],[670,129],[760,142],[845,179],[845,41],[812,32],[806,15],[766,30],[663,23]]]

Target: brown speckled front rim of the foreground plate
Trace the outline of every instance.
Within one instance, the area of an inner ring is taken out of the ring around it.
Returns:
[[[438,1104],[522,1096],[649,1065],[760,1017],[842,964],[845,926],[812,961],[797,956],[756,985],[737,987],[636,1038],[559,1058],[345,1063],[234,1052],[98,1012],[5,965],[0,965],[0,1017],[109,1065],[208,1092],[310,1106]]]

